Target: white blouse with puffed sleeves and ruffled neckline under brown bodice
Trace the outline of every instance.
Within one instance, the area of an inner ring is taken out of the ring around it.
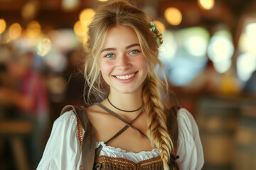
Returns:
[[[199,137],[198,126],[191,113],[181,108],[177,114],[178,120],[178,150],[177,163],[180,169],[202,169],[203,147]],[[100,155],[108,157],[122,157],[132,162],[141,162],[159,156],[158,149],[139,153],[125,150],[96,142],[95,147],[102,145]],[[61,115],[53,124],[53,130],[43,152],[38,170],[43,169],[80,169],[82,164],[80,142],[78,140],[77,119],[73,111]]]

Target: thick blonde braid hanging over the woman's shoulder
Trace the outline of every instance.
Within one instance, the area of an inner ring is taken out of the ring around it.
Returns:
[[[149,79],[143,88],[144,111],[148,114],[147,134],[152,145],[159,149],[161,159],[164,163],[164,169],[169,169],[168,163],[174,145],[167,130],[166,114],[164,106],[161,103],[159,93],[159,79]]]

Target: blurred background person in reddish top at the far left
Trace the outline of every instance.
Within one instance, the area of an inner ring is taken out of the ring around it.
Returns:
[[[24,143],[31,165],[36,166],[43,152],[49,121],[46,84],[42,75],[33,69],[33,53],[14,51],[6,61],[6,77],[1,80],[4,83],[0,86],[0,105],[14,108],[6,119],[26,119],[33,123],[33,132]]]

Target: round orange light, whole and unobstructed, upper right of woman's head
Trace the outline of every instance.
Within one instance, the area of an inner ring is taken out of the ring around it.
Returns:
[[[173,26],[178,26],[182,21],[182,14],[178,8],[166,8],[164,17],[166,18],[166,21]]]

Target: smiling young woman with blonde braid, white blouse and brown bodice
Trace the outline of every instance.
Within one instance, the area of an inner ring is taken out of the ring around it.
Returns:
[[[83,120],[77,111],[63,113],[55,120],[38,169],[87,169],[91,147],[83,148],[94,141],[94,169],[201,169],[203,149],[195,120],[186,109],[170,111],[171,103],[165,107],[161,101],[163,83],[155,72],[156,66],[161,68],[161,37],[146,14],[124,1],[101,6],[88,35],[89,107],[82,108],[82,116],[92,128],[80,132]],[[93,103],[102,91],[107,97]]]

